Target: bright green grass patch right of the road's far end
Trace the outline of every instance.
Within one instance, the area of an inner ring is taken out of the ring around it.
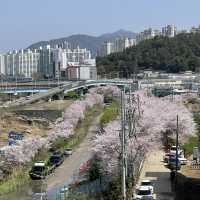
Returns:
[[[119,106],[120,103],[118,101],[113,101],[109,106],[105,107],[100,119],[100,124],[102,126],[117,118],[119,115]]]

